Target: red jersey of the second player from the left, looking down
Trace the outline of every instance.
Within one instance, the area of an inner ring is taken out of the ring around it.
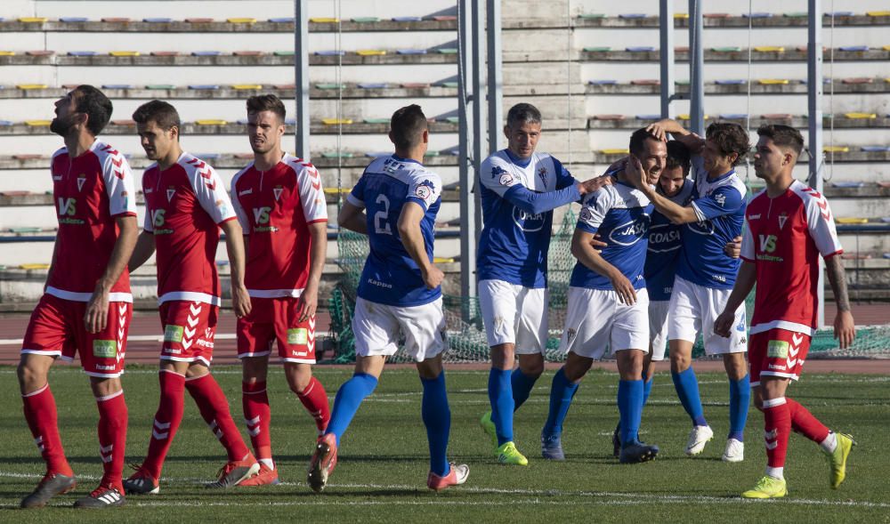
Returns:
[[[219,224],[235,220],[223,180],[189,153],[164,171],[142,175],[144,229],[155,235],[158,303],[180,300],[220,305],[216,271]]]

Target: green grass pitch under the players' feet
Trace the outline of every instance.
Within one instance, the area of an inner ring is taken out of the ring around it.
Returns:
[[[130,410],[127,456],[136,462],[148,446],[158,382],[151,367],[128,369],[124,377]],[[478,426],[479,416],[488,409],[487,372],[449,371],[449,455],[470,464],[471,471],[465,486],[435,494],[425,488],[428,458],[417,374],[406,368],[387,370],[344,436],[331,483],[317,496],[305,486],[314,424],[287,391],[280,370],[273,373],[272,445],[282,485],[206,491],[201,482],[214,477],[224,454],[187,396],[161,494],[131,496],[124,508],[96,513],[76,512],[68,506],[93,489],[101,475],[95,436],[98,417],[85,375],[76,368],[57,367],[51,380],[62,439],[81,482],[75,492],[54,499],[53,507],[26,512],[14,508],[39,480],[44,465],[21,415],[14,370],[0,367],[0,392],[5,399],[0,407],[0,521],[890,521],[887,377],[805,375],[792,387],[794,398],[830,427],[852,433],[859,446],[851,455],[847,481],[836,491],[828,486],[828,465],[819,448],[792,436],[785,468],[789,496],[764,503],[738,497],[763,474],[759,412],[752,409],[749,416],[745,462],[720,461],[728,396],[721,375],[700,375],[705,414],[717,435],[700,457],[683,454],[689,421],[669,377],[661,374],[643,414],[642,434],[643,439],[659,444],[661,455],[648,464],[620,465],[611,457],[610,442],[618,416],[617,377],[602,371],[587,376],[571,408],[563,434],[568,460],[549,463],[539,458],[538,435],[553,376],[548,372],[516,416],[515,440],[530,458],[529,467],[520,468],[495,464],[490,441]],[[219,367],[216,374],[243,428],[239,369]],[[333,397],[351,371],[319,367],[316,374]]]

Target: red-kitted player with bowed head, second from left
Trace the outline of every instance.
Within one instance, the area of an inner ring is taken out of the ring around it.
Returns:
[[[184,390],[229,455],[220,478],[208,488],[229,488],[259,471],[229,403],[213,375],[214,331],[222,303],[214,262],[220,229],[226,234],[231,262],[232,308],[239,317],[250,311],[244,286],[244,244],[223,180],[197,157],[182,151],[180,118],[164,101],[142,104],[133,114],[146,156],[156,160],[142,175],[145,223],[130,270],[157,250],[158,303],[164,326],[161,349],[160,404],[151,428],[149,454],[125,480],[127,493],[158,493],[167,450],[182,422]]]

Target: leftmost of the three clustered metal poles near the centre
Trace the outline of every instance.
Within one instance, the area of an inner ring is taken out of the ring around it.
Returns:
[[[476,0],[473,0],[475,2]],[[475,206],[473,205],[473,182],[475,171],[470,170],[469,143],[475,138],[467,125],[467,118],[472,115],[467,111],[467,102],[475,100],[477,93],[468,93],[468,86],[474,87],[473,71],[470,70],[469,46],[471,32],[473,32],[473,13],[468,9],[467,0],[457,0],[457,113],[459,119],[458,129],[458,158],[457,167],[460,171],[458,186],[460,189],[460,293],[466,298],[476,294],[475,266],[476,239],[473,232],[475,225]],[[478,60],[478,59],[476,59]],[[478,65],[474,68],[478,69]],[[465,321],[470,319],[470,309],[466,307],[468,302],[463,301],[465,307],[461,313]]]

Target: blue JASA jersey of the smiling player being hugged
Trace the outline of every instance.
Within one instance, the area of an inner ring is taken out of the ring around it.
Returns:
[[[578,214],[578,230],[598,233],[607,244],[600,254],[630,280],[635,289],[646,286],[643,266],[653,206],[639,189],[616,181],[587,195]],[[569,285],[612,289],[611,280],[578,262]]]

